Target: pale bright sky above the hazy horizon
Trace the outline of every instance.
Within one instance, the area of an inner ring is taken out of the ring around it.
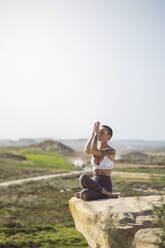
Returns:
[[[0,0],[0,139],[165,140],[164,0]]]

